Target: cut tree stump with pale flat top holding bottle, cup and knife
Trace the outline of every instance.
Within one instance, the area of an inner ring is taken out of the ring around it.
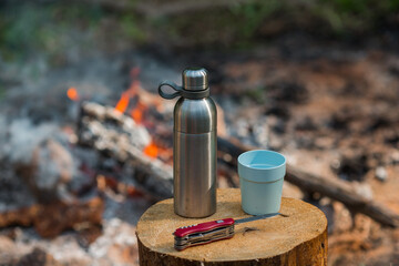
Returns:
[[[275,216],[235,225],[231,239],[177,252],[172,233],[186,225],[227,217],[244,218],[238,188],[217,191],[217,212],[206,218],[183,218],[173,200],[150,207],[137,224],[140,265],[327,265],[327,219],[317,207],[284,197]]]

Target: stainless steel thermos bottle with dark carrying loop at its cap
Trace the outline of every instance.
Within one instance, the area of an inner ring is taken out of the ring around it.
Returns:
[[[163,86],[175,92],[166,93]],[[183,86],[162,82],[164,99],[181,96],[174,108],[174,211],[184,217],[206,217],[216,212],[216,105],[209,98],[205,69],[183,71]]]

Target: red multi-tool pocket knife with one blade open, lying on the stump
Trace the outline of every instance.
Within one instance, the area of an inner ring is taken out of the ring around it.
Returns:
[[[215,241],[232,238],[234,236],[235,224],[247,223],[256,219],[264,219],[276,215],[283,214],[264,214],[242,219],[224,218],[195,225],[183,226],[177,228],[173,233],[173,235],[175,236],[174,247],[177,250],[183,250],[191,246],[204,245]]]

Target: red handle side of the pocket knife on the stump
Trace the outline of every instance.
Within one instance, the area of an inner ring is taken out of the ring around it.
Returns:
[[[184,237],[192,234],[205,233],[216,228],[227,227],[234,225],[234,218],[216,219],[212,222],[188,225],[177,228],[173,234],[176,237]]]

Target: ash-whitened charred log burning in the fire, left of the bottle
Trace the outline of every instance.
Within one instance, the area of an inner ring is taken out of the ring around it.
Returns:
[[[134,180],[154,200],[173,195],[172,167],[144,150],[151,145],[145,127],[113,108],[96,103],[82,104],[79,143],[135,167]]]

